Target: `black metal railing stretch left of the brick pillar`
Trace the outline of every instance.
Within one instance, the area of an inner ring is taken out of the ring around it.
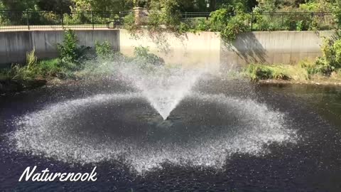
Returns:
[[[119,28],[124,14],[112,11],[0,11],[0,30],[43,28]]]

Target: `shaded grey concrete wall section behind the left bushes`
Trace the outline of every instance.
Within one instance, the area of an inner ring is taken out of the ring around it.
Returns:
[[[95,41],[109,41],[119,50],[119,31],[75,31],[82,46],[94,47]],[[0,32],[0,64],[23,63],[26,52],[36,48],[38,58],[58,57],[57,43],[63,41],[64,31],[6,31]]]

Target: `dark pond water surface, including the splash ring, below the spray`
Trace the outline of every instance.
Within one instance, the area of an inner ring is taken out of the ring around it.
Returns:
[[[3,95],[0,191],[341,191],[340,117],[341,87],[313,85],[205,80],[166,121],[121,82]]]

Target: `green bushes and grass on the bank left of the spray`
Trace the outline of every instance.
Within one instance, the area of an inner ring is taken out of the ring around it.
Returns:
[[[26,54],[26,63],[0,69],[0,94],[29,90],[47,83],[105,78],[113,75],[120,63],[133,63],[141,68],[164,65],[163,59],[149,53],[148,48],[136,47],[135,56],[128,58],[115,52],[107,41],[96,42],[94,48],[78,46],[77,42],[74,31],[65,31],[63,43],[57,45],[58,58],[38,60],[33,49]]]

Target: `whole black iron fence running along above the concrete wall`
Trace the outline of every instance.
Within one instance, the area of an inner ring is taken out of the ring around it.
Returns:
[[[0,30],[122,28],[124,23],[129,22],[137,27],[146,27],[146,23],[152,16],[151,12],[142,11],[139,13],[139,21],[136,21],[136,13],[133,11],[71,11],[69,14],[46,11],[0,11]],[[178,16],[181,21],[190,23],[192,27],[209,25],[210,12],[184,12]],[[331,13],[247,14],[244,23],[250,31],[308,31],[335,28],[334,17]]]

